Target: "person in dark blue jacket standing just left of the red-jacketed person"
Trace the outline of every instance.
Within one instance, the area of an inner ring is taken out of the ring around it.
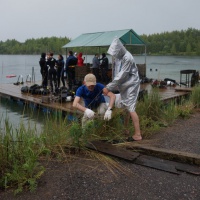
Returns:
[[[72,85],[75,84],[75,66],[77,65],[78,59],[73,55],[72,51],[68,52],[66,60],[66,72],[68,74],[69,89],[72,89]]]

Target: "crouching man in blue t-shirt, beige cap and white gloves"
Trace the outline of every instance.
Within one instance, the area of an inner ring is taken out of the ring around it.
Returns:
[[[108,106],[104,95],[110,98]],[[84,106],[80,104],[81,98],[84,100]],[[100,115],[104,114],[104,120],[110,120],[114,102],[115,94],[107,92],[103,84],[97,83],[93,74],[87,74],[84,78],[84,85],[80,86],[76,91],[73,107],[84,112],[82,118],[82,127],[84,127],[88,120],[94,118],[95,112],[93,110]]]

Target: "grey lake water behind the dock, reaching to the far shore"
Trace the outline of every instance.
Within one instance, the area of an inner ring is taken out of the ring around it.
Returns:
[[[92,58],[93,55],[88,55],[86,62],[91,63]],[[108,56],[108,58],[111,62],[111,57]],[[134,56],[134,58],[138,64],[145,63],[144,56]],[[19,75],[23,75],[26,79],[28,74],[32,75],[33,68],[35,80],[40,81],[39,59],[40,55],[0,55],[0,83],[16,82]],[[200,57],[147,56],[146,64],[147,77],[153,79],[171,78],[179,82],[180,70],[195,69],[200,71]],[[17,77],[6,78],[9,74],[15,74]]]

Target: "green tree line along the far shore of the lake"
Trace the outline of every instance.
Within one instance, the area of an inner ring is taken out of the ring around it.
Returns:
[[[187,30],[140,35],[147,44],[148,55],[200,55],[200,30],[188,28]],[[0,54],[41,54],[42,52],[54,52],[65,54],[62,48],[70,42],[67,37],[44,37],[39,39],[27,39],[20,43],[15,39],[0,41]],[[134,54],[143,54],[144,47],[127,47]],[[101,48],[106,52],[108,48]],[[74,48],[73,51],[85,52],[84,48]],[[87,48],[87,54],[99,52],[98,48]]]

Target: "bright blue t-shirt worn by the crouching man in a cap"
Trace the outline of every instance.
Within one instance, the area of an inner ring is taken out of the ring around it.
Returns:
[[[79,87],[76,91],[77,97],[82,97],[86,108],[94,109],[99,106],[100,103],[105,103],[103,93],[105,86],[101,83],[97,83],[93,91],[89,91],[85,85]]]

